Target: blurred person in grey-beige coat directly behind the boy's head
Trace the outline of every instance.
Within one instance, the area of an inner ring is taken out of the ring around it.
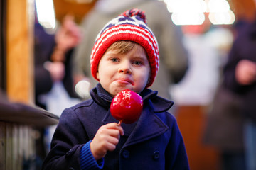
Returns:
[[[183,46],[183,33],[171,21],[171,13],[167,11],[163,1],[151,0],[98,0],[83,19],[81,26],[83,39],[75,48],[73,74],[75,81],[87,79],[90,88],[97,81],[90,74],[90,51],[95,42],[97,33],[114,16],[129,8],[139,8],[145,11],[148,26],[155,33],[159,43],[160,69],[152,90],[159,91],[159,96],[171,99],[169,88],[171,84],[178,83],[188,69],[188,53]],[[172,112],[174,113],[174,112]]]

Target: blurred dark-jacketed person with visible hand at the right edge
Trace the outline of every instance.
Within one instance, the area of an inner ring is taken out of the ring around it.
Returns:
[[[255,1],[256,2],[256,1]],[[256,20],[240,29],[224,67],[224,86],[238,94],[245,118],[245,162],[256,169]]]

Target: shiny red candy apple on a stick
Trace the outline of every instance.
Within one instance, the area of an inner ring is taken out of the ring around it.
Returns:
[[[134,91],[123,90],[114,96],[110,105],[111,115],[123,123],[134,123],[142,114],[142,97]]]

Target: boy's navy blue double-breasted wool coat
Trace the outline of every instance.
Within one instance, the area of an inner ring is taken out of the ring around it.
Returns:
[[[137,123],[124,124],[124,136],[113,152],[107,152],[103,169],[189,169],[186,149],[176,119],[166,112],[173,102],[145,89],[144,108]],[[112,97],[100,84],[92,99],[66,108],[53,135],[43,169],[81,169],[80,150],[100,126],[117,122],[110,114]]]

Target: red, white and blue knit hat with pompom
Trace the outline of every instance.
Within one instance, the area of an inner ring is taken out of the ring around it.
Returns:
[[[107,48],[121,40],[137,42],[146,50],[151,67],[151,75],[146,87],[151,86],[159,69],[159,47],[154,34],[146,25],[144,11],[136,8],[112,19],[97,35],[90,60],[92,76],[97,79],[97,67]]]

